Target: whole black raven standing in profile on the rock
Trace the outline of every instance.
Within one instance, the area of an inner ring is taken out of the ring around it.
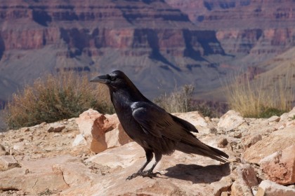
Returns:
[[[167,113],[164,109],[147,99],[122,71],[97,76],[91,82],[106,84],[120,123],[126,134],[145,150],[147,161],[136,176],[157,176],[153,173],[162,155],[170,155],[178,150],[183,153],[203,155],[214,160],[226,162],[228,155],[216,148],[203,144],[191,132],[198,132],[194,125]],[[155,164],[143,171],[155,154]]]

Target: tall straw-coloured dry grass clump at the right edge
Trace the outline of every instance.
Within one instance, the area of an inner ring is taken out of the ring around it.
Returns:
[[[280,116],[292,108],[294,95],[291,72],[277,80],[260,78],[254,81],[247,74],[244,80],[240,80],[236,76],[230,85],[227,84],[227,88],[226,97],[230,109],[239,111],[244,117]]]

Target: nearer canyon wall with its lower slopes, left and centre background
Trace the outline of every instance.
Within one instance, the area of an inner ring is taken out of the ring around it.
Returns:
[[[19,86],[47,71],[122,69],[140,87],[152,73],[152,85],[169,90],[176,80],[204,80],[199,71],[217,79],[216,63],[206,58],[229,58],[214,30],[197,28],[164,1],[7,0],[0,27],[0,76]],[[157,94],[155,87],[147,93]]]

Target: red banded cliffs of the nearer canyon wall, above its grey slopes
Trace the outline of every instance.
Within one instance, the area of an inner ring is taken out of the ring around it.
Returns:
[[[126,56],[223,52],[214,31],[197,31],[186,15],[162,1],[4,1],[0,24],[2,54],[63,44],[69,50],[58,55],[68,57],[103,55],[100,48],[117,48]]]

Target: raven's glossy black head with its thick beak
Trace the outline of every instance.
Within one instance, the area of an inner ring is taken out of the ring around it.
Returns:
[[[125,73],[119,70],[112,71],[110,74],[96,76],[90,81],[93,83],[103,83],[112,88],[124,87],[131,83],[131,80],[129,80]]]

